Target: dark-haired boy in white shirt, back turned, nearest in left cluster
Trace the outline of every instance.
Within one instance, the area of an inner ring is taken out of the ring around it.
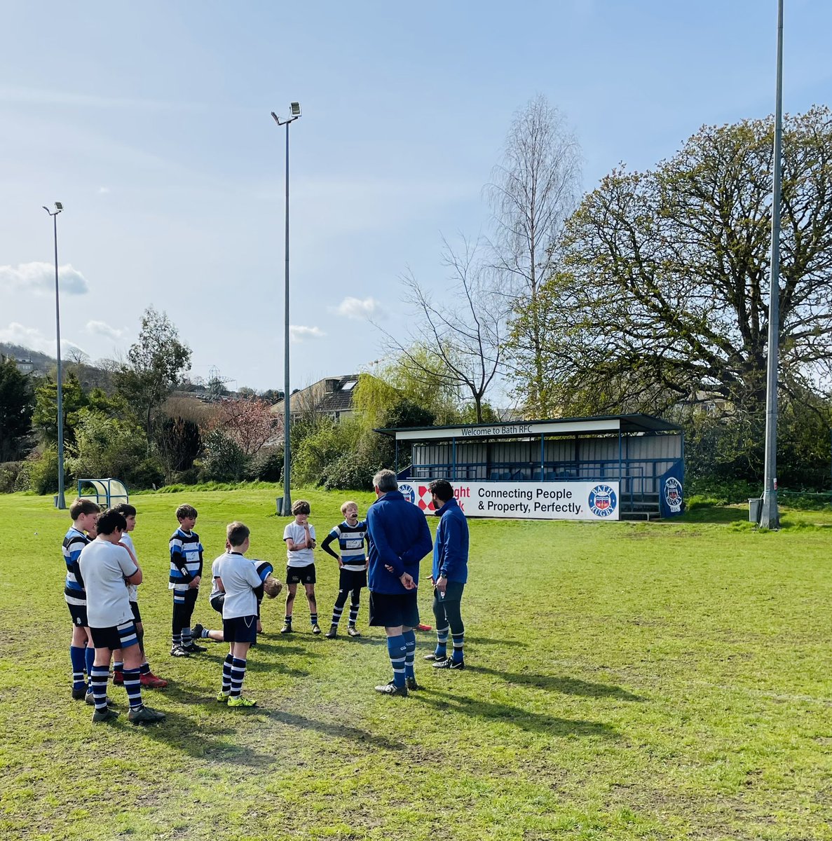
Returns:
[[[119,546],[127,521],[118,511],[109,509],[96,521],[98,536],[83,547],[78,566],[87,589],[87,619],[95,645],[93,664],[93,722],[109,722],[118,713],[107,703],[109,664],[115,650],[124,655],[125,690],[130,702],[130,722],[151,724],[162,721],[163,712],[144,706],[141,701],[139,667],[141,652],[130,610],[127,584],[141,584],[141,570],[130,553]]]

